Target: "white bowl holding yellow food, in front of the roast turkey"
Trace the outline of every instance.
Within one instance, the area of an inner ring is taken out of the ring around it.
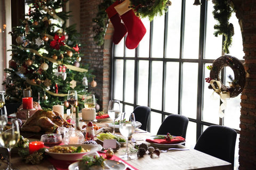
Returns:
[[[54,148],[54,147],[50,147],[50,148],[45,149],[45,152],[47,152],[47,154],[49,154],[54,159],[75,161],[77,159],[81,159],[86,154],[90,154],[92,152],[99,151],[102,149],[101,145],[71,144],[71,145],[60,145],[60,146],[61,147],[70,147],[70,146],[79,147],[79,146],[81,146],[84,149],[90,149],[90,151],[89,152],[80,152],[80,153],[55,153],[55,152],[49,151],[49,149]]]

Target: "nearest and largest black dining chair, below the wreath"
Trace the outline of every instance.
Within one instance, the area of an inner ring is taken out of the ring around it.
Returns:
[[[226,160],[234,168],[236,135],[234,129],[221,125],[211,125],[201,134],[194,149]]]

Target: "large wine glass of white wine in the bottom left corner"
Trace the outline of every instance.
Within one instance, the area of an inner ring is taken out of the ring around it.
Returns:
[[[0,134],[0,144],[8,150],[7,170],[12,170],[11,149],[17,145],[20,140],[20,130],[17,119],[11,119],[7,122],[3,132]]]

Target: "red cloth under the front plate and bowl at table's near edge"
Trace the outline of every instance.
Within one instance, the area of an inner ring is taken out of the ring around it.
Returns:
[[[103,156],[104,158],[106,158],[105,154],[100,154],[100,156]],[[76,161],[67,161],[67,160],[57,160],[57,159],[53,159],[51,157],[48,157],[47,160],[57,169],[57,170],[68,170],[68,166]],[[113,157],[110,160],[122,160],[121,158],[113,155]],[[133,169],[135,170],[139,170],[135,167],[133,167],[132,165],[128,164],[125,162],[125,160],[122,160],[125,164],[131,166]]]

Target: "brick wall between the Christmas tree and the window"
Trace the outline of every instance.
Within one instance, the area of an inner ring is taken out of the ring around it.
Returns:
[[[111,69],[111,35],[113,33],[113,27],[109,24],[105,36],[105,43],[102,46],[98,46],[93,40],[93,25],[92,19],[98,13],[98,5],[102,0],[93,1],[80,1],[80,29],[81,29],[81,53],[84,54],[82,57],[82,63],[89,63],[90,69],[93,70],[95,75],[95,81],[97,81],[97,87],[92,88],[89,86],[89,91],[95,94],[98,99],[98,104],[101,110],[107,111],[109,93],[110,93],[110,69]],[[90,82],[89,82],[90,83]]]

